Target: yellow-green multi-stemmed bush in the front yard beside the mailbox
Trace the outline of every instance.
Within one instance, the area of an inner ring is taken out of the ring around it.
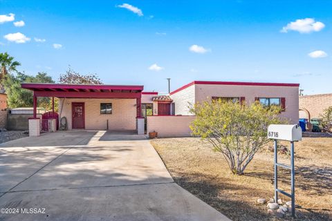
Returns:
[[[237,175],[243,175],[255,153],[269,142],[268,125],[282,122],[279,106],[265,108],[259,102],[247,106],[219,99],[196,104],[191,111],[196,115],[190,125],[192,133],[221,152]]]

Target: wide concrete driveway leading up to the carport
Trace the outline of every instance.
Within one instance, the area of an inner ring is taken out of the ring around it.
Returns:
[[[144,136],[105,131],[0,144],[0,209],[0,220],[228,220],[175,184]]]

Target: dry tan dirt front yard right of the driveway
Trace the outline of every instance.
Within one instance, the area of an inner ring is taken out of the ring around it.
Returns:
[[[228,218],[278,220],[267,213],[266,204],[257,204],[258,198],[273,198],[273,153],[268,146],[255,155],[245,175],[233,175],[221,153],[199,138],[156,139],[151,144],[176,183]],[[295,143],[296,220],[332,220],[331,152],[331,137],[305,137]],[[279,162],[290,164],[286,155],[279,155]],[[279,169],[279,177],[280,189],[289,193],[290,173]]]

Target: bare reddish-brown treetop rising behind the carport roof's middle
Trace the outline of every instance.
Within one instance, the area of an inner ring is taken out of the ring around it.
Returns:
[[[102,84],[102,81],[97,75],[81,75],[71,69],[71,66],[66,70],[66,74],[60,75],[59,82],[61,84]]]

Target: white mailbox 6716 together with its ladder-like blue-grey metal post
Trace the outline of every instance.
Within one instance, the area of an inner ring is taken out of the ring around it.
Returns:
[[[274,140],[275,146],[275,202],[278,202],[278,193],[282,193],[292,200],[292,216],[295,217],[295,167],[294,167],[294,142],[302,140],[302,130],[297,124],[271,124],[268,126],[268,138]],[[277,140],[291,142],[291,166],[278,163]],[[278,189],[278,166],[291,170],[291,193]]]

